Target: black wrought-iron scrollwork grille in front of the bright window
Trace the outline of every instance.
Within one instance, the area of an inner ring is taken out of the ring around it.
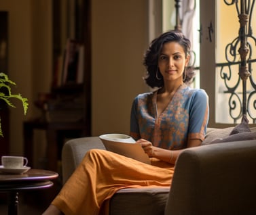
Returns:
[[[255,123],[256,114],[253,113],[256,109],[256,85],[253,77],[251,77],[253,64],[256,67],[256,59],[252,59],[253,47],[256,45],[256,38],[253,36],[253,30],[251,28],[255,0],[240,0],[240,6],[238,0],[223,1],[226,5],[229,6],[236,5],[236,11],[238,13],[240,22],[240,29],[238,37],[236,37],[225,47],[225,58],[227,63],[217,64],[217,67],[220,67],[219,75],[221,79],[224,80],[224,84],[227,89],[227,91],[224,93],[230,94],[230,116],[234,120],[234,123],[236,123],[242,114],[248,114]],[[255,43],[255,45],[252,45],[251,42]],[[234,68],[234,66],[238,66],[239,70],[239,77],[235,84],[234,75],[232,74],[232,68]],[[232,86],[230,86],[231,79],[233,80]],[[238,88],[240,86],[241,80],[242,97],[240,96],[240,93],[237,93],[240,91]],[[247,91],[247,84],[250,84],[250,91]],[[247,96],[248,100],[246,99]]]

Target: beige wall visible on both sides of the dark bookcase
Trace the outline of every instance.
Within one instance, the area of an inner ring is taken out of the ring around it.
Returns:
[[[51,1],[0,1],[10,14],[8,72],[29,99],[26,116],[20,103],[11,110],[10,153],[16,155],[23,153],[22,122],[39,116],[33,104],[37,93],[50,91]],[[92,1],[92,135],[128,133],[132,99],[147,91],[142,79],[147,25],[147,0]]]

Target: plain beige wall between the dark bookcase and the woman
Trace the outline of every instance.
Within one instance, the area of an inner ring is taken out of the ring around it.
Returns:
[[[92,1],[92,135],[128,133],[132,100],[147,91],[147,0]]]

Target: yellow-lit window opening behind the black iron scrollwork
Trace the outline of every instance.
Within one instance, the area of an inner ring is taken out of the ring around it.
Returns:
[[[240,39],[238,32],[240,28],[240,22],[238,14],[241,13],[240,2],[225,3],[227,1],[216,2],[216,114],[215,120],[218,123],[238,123],[242,116],[242,79],[238,75],[240,70]],[[244,1],[246,2],[246,1]],[[250,5],[248,3],[245,9],[246,14],[250,14]],[[245,5],[246,7],[246,5]],[[252,15],[252,14],[251,14]],[[223,22],[223,20],[225,20]],[[249,28],[246,28],[246,34],[249,34],[251,28],[252,32],[256,30],[256,22],[249,19]],[[255,39],[253,36],[248,35],[249,53],[246,55],[246,59],[256,59]],[[255,62],[249,62],[249,72],[251,72],[251,78],[246,80],[246,105],[248,118],[251,122],[255,122],[255,107],[253,102],[255,101],[255,87],[253,87],[253,81],[256,77],[256,64]],[[253,93],[254,92],[254,93]],[[251,110],[254,110],[252,112]]]

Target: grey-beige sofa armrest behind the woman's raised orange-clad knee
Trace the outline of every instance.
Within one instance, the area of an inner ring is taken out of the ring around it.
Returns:
[[[62,148],[62,181],[63,184],[75,171],[78,164],[90,149],[105,149],[98,137],[71,139]]]

